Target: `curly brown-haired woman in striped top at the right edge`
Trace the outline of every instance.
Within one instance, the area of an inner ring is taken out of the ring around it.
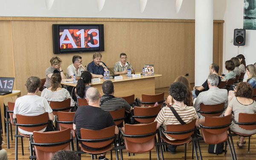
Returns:
[[[225,111],[225,116],[232,114],[234,115],[234,120],[238,122],[239,113],[256,113],[256,102],[250,99],[253,95],[253,88],[247,82],[241,82],[236,86],[236,97],[228,104],[228,107]],[[230,130],[238,132],[240,134],[255,134],[256,129],[246,130],[239,127],[239,125],[232,122],[230,125]],[[236,143],[239,148],[242,148],[245,143],[244,137],[239,137],[239,141]]]

